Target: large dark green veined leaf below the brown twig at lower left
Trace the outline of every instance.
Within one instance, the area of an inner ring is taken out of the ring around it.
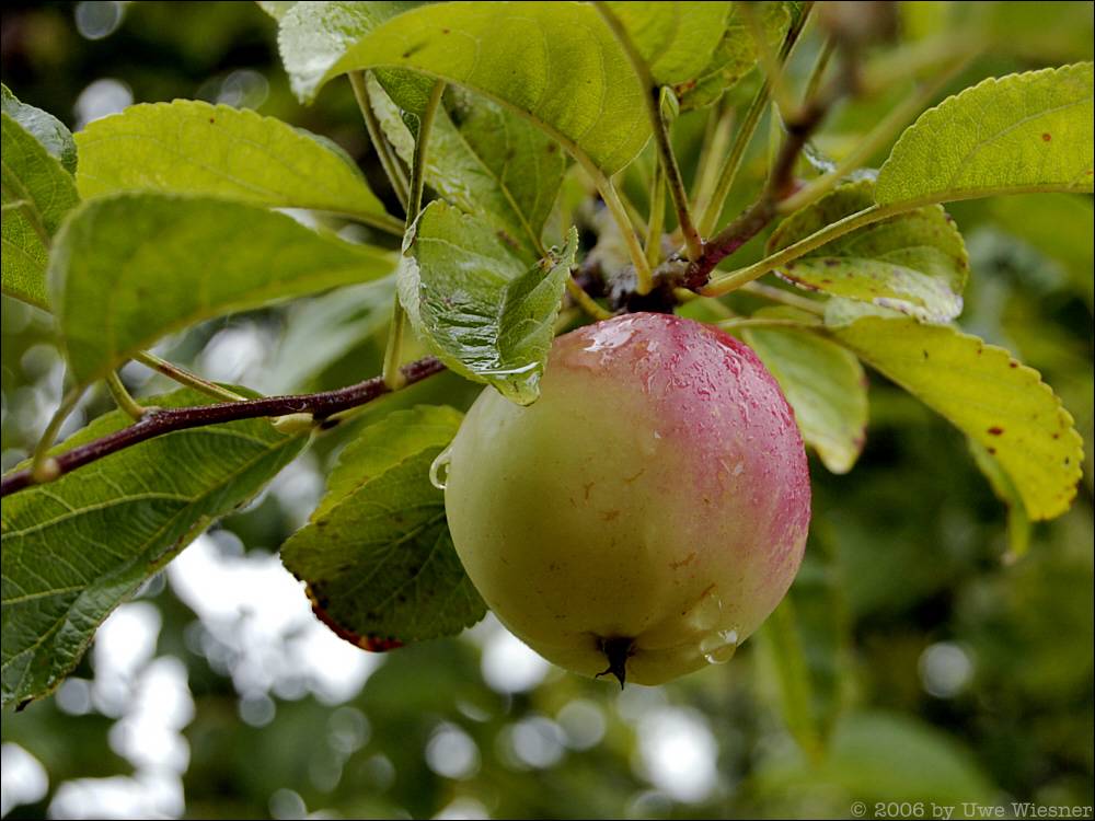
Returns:
[[[148,402],[210,400],[182,390]],[[115,410],[55,452],[129,424]],[[3,704],[56,687],[114,608],[214,519],[258,493],[306,442],[266,419],[180,430],[5,498]]]

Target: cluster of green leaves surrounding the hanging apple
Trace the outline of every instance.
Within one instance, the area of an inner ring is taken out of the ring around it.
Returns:
[[[637,267],[629,241],[645,233],[641,258],[680,263],[675,209],[656,212],[667,199],[652,161],[656,129],[675,129],[666,142],[678,149],[688,144],[683,134],[696,135],[704,149],[687,176],[694,171],[693,187],[710,194],[723,159],[712,147],[747,112],[728,92],[774,59],[784,38],[789,48],[791,24],[807,13],[783,2],[260,5],[277,21],[297,96],[312,102],[353,74],[393,186],[420,172],[427,204],[389,213],[345,150],[255,112],[142,104],[73,138],[2,89],[3,293],[51,314],[76,389],[112,377],[168,335],[330,292],[287,314],[285,338],[309,348],[287,381],[308,382],[314,373],[306,371],[383,332],[383,303],[395,296],[415,337],[389,351],[396,359],[428,351],[485,390],[534,402],[552,339],[581,321],[564,297],[575,271],[610,268],[604,290],[626,296]],[[864,363],[952,421],[1010,507],[1013,554],[1025,550],[1030,521],[1069,508],[1083,443],[1037,371],[955,324],[981,275],[943,204],[1048,194],[1035,219],[1014,205],[1021,199],[991,208],[1060,261],[1086,288],[1090,309],[1091,243],[1070,238],[1061,250],[1054,231],[1086,221],[1090,239],[1092,78],[1091,62],[1074,62],[989,78],[947,97],[901,134],[877,172],[832,180],[763,238],[761,263],[774,261],[764,270],[789,287],[683,309],[740,328],[833,473],[849,472],[864,449]],[[741,90],[763,103],[766,86],[754,79]],[[447,88],[427,111],[437,81]],[[671,125],[652,123],[652,94]],[[773,113],[770,157],[782,125]],[[739,187],[751,195],[763,189],[764,163],[746,143]],[[619,196],[612,177],[621,172],[645,200]],[[685,205],[694,194],[683,193]],[[596,247],[584,247],[589,233]],[[788,305],[757,309],[757,294]],[[601,299],[597,309],[609,304]],[[142,402],[183,407],[208,397],[183,390]],[[400,402],[412,404],[393,400],[366,417],[371,424],[347,426],[327,496],[283,551],[319,617],[372,649],[452,635],[485,612],[429,481],[460,414],[443,405],[391,410]],[[102,416],[60,447],[127,419]],[[114,606],[257,494],[308,440],[265,419],[176,431],[5,499],[4,703],[50,692]],[[809,748],[826,732],[814,726],[796,629],[788,610],[766,641],[788,726]],[[832,761],[868,759],[875,731],[947,758],[914,729],[858,716],[837,722]],[[967,775],[955,784],[980,789]],[[799,777],[775,773],[771,783]]]

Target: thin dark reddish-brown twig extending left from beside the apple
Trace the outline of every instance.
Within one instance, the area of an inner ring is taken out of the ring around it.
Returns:
[[[435,373],[440,373],[445,370],[445,366],[434,357],[426,357],[405,365],[402,370],[406,380],[405,384],[410,385]],[[135,425],[51,456],[49,474],[51,478],[57,478],[112,453],[117,453],[139,442],[174,430],[289,414],[311,414],[316,421],[322,421],[333,414],[358,407],[385,393],[391,393],[391,389],[384,384],[383,378],[373,377],[365,382],[358,382],[356,385],[323,393],[266,396],[260,400],[160,410],[149,408],[145,417]],[[35,481],[30,469],[15,471],[4,476],[0,482],[0,496],[18,493],[34,484]]]

